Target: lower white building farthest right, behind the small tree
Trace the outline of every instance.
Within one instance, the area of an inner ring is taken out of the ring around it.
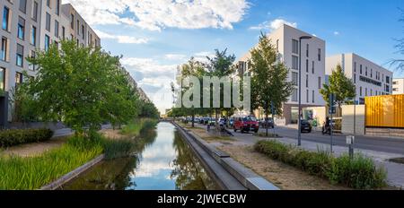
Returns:
[[[393,73],[382,66],[354,53],[339,54],[327,57],[326,74],[332,74],[337,65],[354,82],[357,104],[364,104],[364,97],[391,94]]]

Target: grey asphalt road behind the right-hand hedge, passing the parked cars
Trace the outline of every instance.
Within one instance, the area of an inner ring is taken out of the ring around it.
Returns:
[[[297,140],[297,130],[294,128],[276,126],[275,130],[276,133],[281,136],[296,138]],[[260,128],[259,131],[265,132],[265,129]],[[273,130],[269,129],[269,132],[272,133]],[[333,138],[334,145],[347,147],[346,135],[334,134]],[[316,143],[330,143],[330,136],[328,134],[323,135],[321,132],[312,132],[310,134],[303,133],[302,140]],[[404,154],[404,138],[400,139],[356,135],[355,142],[355,148],[359,149]]]

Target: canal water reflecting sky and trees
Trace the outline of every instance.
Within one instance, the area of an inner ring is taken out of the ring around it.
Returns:
[[[142,132],[133,156],[101,161],[62,189],[217,189],[189,148],[175,126],[162,122],[155,129]]]

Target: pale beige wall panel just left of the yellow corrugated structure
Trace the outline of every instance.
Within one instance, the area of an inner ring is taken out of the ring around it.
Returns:
[[[355,115],[355,116],[354,116]],[[342,106],[342,133],[364,134],[365,108],[364,105],[344,105]],[[355,124],[355,125],[354,125]]]

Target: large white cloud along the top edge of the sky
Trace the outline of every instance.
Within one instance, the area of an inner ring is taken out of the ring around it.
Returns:
[[[66,0],[92,25],[126,24],[145,30],[233,29],[247,0]],[[127,17],[129,14],[130,17]],[[125,17],[123,17],[125,16]]]

